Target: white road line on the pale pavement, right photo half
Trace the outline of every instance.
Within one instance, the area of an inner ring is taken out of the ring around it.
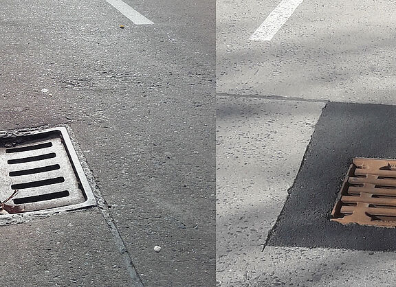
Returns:
[[[250,36],[252,41],[271,41],[278,33],[279,29],[286,23],[287,19],[292,16],[294,10],[303,3],[304,0],[283,0],[271,12],[267,19],[257,28]]]

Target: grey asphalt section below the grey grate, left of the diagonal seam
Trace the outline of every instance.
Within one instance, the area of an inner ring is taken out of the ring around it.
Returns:
[[[1,227],[1,286],[133,286],[97,209]]]

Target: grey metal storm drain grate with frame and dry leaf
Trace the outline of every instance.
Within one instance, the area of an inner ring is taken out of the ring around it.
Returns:
[[[17,212],[96,205],[64,127],[0,138],[0,200]]]

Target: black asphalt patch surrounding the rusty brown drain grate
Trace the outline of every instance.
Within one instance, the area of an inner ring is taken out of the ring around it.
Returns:
[[[396,159],[396,106],[329,103],[268,245],[396,251],[396,229],[330,221],[354,157]]]

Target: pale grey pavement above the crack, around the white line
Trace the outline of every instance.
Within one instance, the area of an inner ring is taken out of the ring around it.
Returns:
[[[218,1],[217,93],[396,104],[393,2],[305,0],[250,41],[279,2]]]

